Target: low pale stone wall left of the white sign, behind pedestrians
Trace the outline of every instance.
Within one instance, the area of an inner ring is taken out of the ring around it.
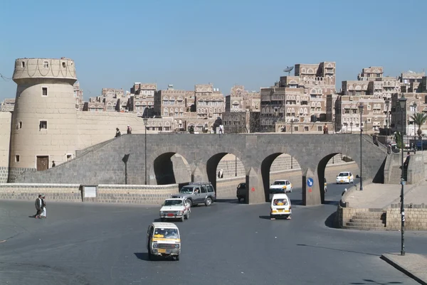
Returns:
[[[39,194],[46,195],[46,204],[50,200],[62,202],[82,201],[80,184],[0,184],[0,199],[35,201]]]

